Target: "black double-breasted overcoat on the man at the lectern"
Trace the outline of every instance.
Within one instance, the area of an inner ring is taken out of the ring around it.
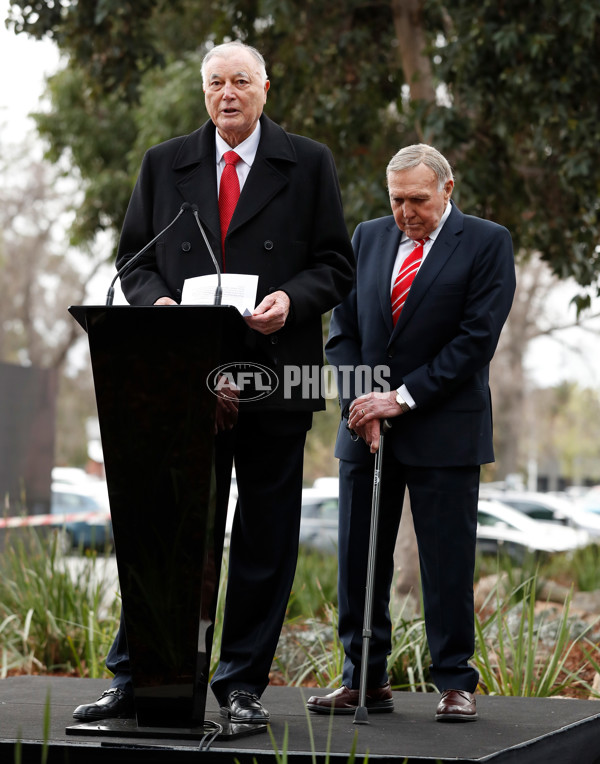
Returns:
[[[264,114],[260,122],[258,151],[225,240],[225,270],[258,274],[257,303],[276,290],[291,299],[283,329],[268,336],[253,333],[253,360],[267,363],[280,379],[277,395],[260,406],[314,411],[324,408],[314,388],[307,395],[306,387],[284,382],[291,367],[321,367],[321,315],[350,291],[354,255],[331,151],[285,132]],[[175,217],[183,202],[198,206],[223,266],[215,151],[215,126],[208,121],[146,152],[125,216],[118,268]],[[186,278],[214,273],[189,211],[142,260],[121,278],[132,305],[152,305],[163,296],[179,302]],[[295,372],[291,378],[297,379]]]

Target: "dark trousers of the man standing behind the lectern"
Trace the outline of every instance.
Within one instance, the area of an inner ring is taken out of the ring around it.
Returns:
[[[238,486],[220,663],[211,683],[221,704],[234,689],[261,695],[269,683],[296,571],[304,445],[312,424],[312,412],[254,412],[251,406],[242,403],[236,427],[216,438],[215,526],[221,533],[232,462]],[[106,666],[114,674],[111,687],[131,689],[122,612]]]

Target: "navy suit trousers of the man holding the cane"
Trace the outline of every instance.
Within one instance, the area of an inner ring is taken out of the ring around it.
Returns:
[[[358,688],[370,535],[374,459],[340,461],[339,633],[343,684]],[[394,547],[408,488],[414,521],[431,679],[440,691],[474,692],[478,672],[468,661],[475,648],[473,575],[479,467],[412,467],[384,453],[372,600],[367,686],[388,681],[392,649],[389,610]]]

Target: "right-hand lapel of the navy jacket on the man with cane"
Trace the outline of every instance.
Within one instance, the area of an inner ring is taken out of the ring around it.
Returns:
[[[398,323],[394,328],[392,339],[395,339],[402,328],[411,320],[439,272],[454,253],[460,241],[458,234],[463,228],[463,217],[462,212],[452,203],[452,212],[448,220],[446,220],[431,250],[427,253],[425,262],[415,276]]]

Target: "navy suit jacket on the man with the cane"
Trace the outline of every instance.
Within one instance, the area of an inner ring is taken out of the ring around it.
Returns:
[[[333,311],[326,345],[338,367],[342,412],[362,392],[339,367],[383,367],[391,388],[403,383],[417,408],[392,418],[386,449],[408,465],[451,467],[493,461],[489,363],[515,290],[506,228],[463,215],[453,204],[421,266],[397,325],[390,284],[401,231],[393,216],[361,223],[354,234],[356,280]],[[350,384],[348,384],[350,382]],[[373,389],[382,389],[375,385]],[[372,458],[342,419],[336,456]]]

